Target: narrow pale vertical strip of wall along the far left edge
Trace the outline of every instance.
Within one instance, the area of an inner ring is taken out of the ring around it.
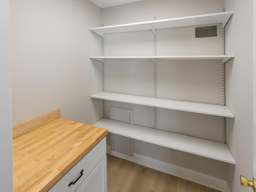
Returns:
[[[0,1],[0,186],[13,191],[9,2]]]

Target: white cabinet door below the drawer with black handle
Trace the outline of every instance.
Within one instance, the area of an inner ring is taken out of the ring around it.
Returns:
[[[82,182],[76,192],[107,192],[107,158],[106,156]]]

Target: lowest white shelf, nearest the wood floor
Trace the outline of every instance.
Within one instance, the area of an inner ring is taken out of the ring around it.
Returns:
[[[199,156],[236,164],[226,144],[170,133],[162,130],[102,119],[93,126],[108,129],[108,132],[149,142],[152,144],[196,154]]]

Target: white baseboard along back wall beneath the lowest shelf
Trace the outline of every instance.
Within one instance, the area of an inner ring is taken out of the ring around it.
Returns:
[[[221,192],[230,192],[230,189],[228,187],[226,180],[222,180],[207,174],[203,174],[187,168],[162,162],[162,161],[149,158],[146,156],[142,156],[136,153],[134,153],[134,157],[127,156],[127,155],[110,150],[109,145],[107,145],[107,153],[128,161],[152,168],[154,170],[158,170],[173,176],[177,176],[179,178],[183,178],[183,179],[198,183],[200,185],[204,185],[204,186],[219,190]]]

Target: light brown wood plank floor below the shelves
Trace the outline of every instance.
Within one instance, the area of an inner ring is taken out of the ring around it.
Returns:
[[[107,174],[108,192],[218,192],[109,154]]]

